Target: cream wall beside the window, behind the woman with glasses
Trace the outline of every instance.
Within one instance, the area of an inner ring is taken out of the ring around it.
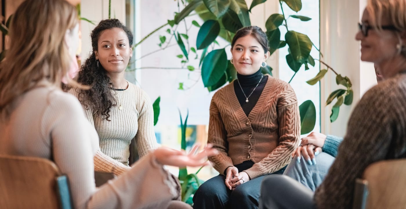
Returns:
[[[354,100],[351,107],[342,105],[337,120],[330,123],[330,104],[322,105],[322,132],[343,136],[350,113],[361,96],[376,84],[374,67],[360,61],[360,46],[355,40],[357,23],[365,7],[366,0],[320,1],[320,38],[324,61],[338,73],[348,76],[352,81]],[[335,75],[329,74],[321,83],[322,104],[328,95],[338,89]],[[324,110],[324,111],[323,111]]]

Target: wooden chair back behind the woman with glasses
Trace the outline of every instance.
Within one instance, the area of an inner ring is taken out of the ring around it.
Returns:
[[[406,159],[372,163],[356,179],[353,209],[406,209]]]

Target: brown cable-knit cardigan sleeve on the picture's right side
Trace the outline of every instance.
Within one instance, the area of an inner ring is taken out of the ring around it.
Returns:
[[[264,159],[245,170],[251,179],[271,174],[283,168],[299,146],[300,114],[293,88],[286,84],[277,103],[279,121],[279,145]]]

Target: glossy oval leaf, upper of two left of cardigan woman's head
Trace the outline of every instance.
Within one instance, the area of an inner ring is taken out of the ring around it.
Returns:
[[[197,34],[197,49],[204,49],[212,44],[218,36],[218,33],[220,33],[220,24],[218,24],[216,20],[207,20],[203,23]]]

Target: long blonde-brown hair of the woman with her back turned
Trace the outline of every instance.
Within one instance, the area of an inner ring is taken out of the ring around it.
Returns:
[[[65,0],[26,0],[17,8],[0,64],[1,115],[8,116],[10,103],[40,81],[61,85],[71,64],[65,33],[77,23],[76,8]]]

